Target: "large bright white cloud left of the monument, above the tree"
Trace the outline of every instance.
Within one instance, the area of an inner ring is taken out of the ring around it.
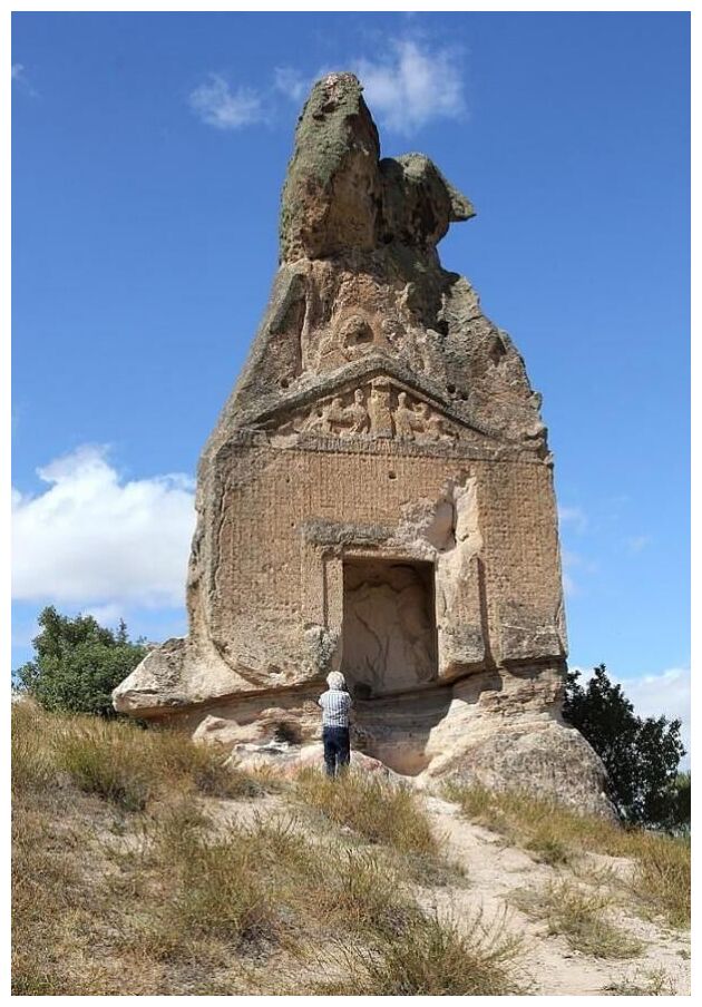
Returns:
[[[12,597],[118,615],[178,606],[195,524],[193,480],[125,481],[103,447],[84,446],[38,470],[48,488],[12,493]],[[107,607],[106,607],[107,606]]]

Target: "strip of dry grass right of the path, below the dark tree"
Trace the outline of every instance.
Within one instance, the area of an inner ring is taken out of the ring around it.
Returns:
[[[497,792],[450,783],[445,792],[471,821],[499,832],[546,863],[566,863],[582,852],[634,861],[628,890],[641,908],[664,916],[674,927],[690,926],[689,839],[625,829],[518,790]]]

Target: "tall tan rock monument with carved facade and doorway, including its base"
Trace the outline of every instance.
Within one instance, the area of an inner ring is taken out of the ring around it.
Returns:
[[[559,716],[540,397],[437,254],[474,215],[429,158],[380,157],[355,77],[314,86],[270,304],[199,463],[189,635],[153,649],[115,706],[234,759],[304,761],[339,668],[357,752],[420,783],[607,811],[602,763]]]

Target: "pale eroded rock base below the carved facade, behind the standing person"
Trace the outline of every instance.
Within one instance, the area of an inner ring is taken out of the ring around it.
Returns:
[[[201,675],[193,644],[169,641],[152,652],[116,691],[117,708],[168,720],[197,742],[231,753],[232,764],[284,776],[323,765],[320,681],[248,695],[242,680],[212,659]],[[189,658],[187,687],[182,662]],[[199,686],[198,686],[199,681]],[[524,789],[577,811],[612,817],[604,765],[583,735],[560,718],[560,663],[495,668],[454,683],[357,698],[351,732],[354,764],[433,788],[442,780],[489,789]],[[234,692],[234,694],[232,694]],[[203,698],[209,702],[203,704]]]

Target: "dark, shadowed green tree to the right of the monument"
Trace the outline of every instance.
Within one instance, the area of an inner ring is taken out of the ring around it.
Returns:
[[[684,788],[679,794],[675,780],[685,754],[681,722],[637,716],[622,686],[610,681],[604,664],[594,669],[585,686],[579,677],[579,672],[566,676],[563,715],[604,762],[610,796],[622,819],[660,829],[680,828]]]

